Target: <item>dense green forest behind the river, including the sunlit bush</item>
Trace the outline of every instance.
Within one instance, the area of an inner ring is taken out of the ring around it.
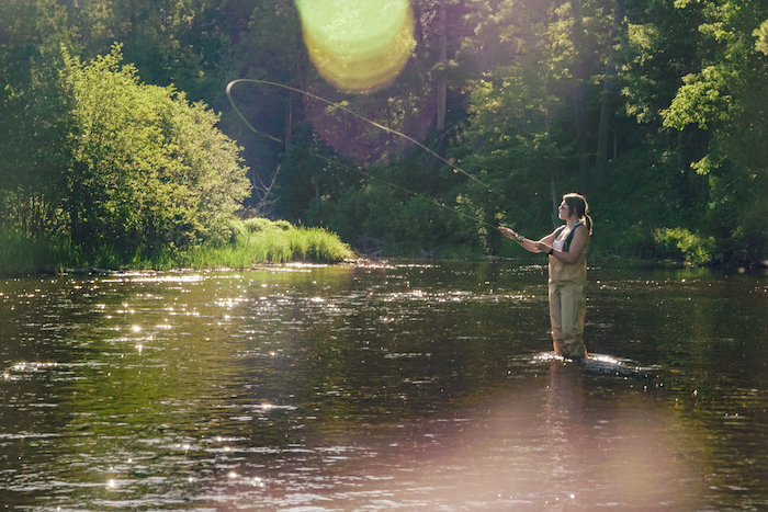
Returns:
[[[350,92],[290,0],[0,0],[0,246],[129,259],[237,215],[520,255],[495,226],[543,236],[575,191],[597,257],[766,261],[768,0],[410,8],[403,70]]]

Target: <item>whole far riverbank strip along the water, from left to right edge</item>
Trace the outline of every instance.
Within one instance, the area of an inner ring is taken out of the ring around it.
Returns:
[[[31,239],[15,231],[0,231],[0,276],[60,274],[108,274],[128,271],[168,271],[174,269],[250,269],[264,264],[291,262],[341,263],[345,261],[380,260],[381,251],[358,248],[357,253],[339,237],[320,228],[296,227],[284,220],[251,218],[237,220],[226,234],[195,247],[167,249],[154,255],[120,254],[102,248],[87,258],[65,239]],[[385,259],[445,260],[513,260],[522,264],[545,262],[540,254],[520,252],[502,255],[483,254],[477,248],[453,247],[440,251],[418,251],[409,254],[385,254]],[[696,265],[682,259],[635,258],[591,251],[590,266],[622,268],[768,268],[768,261],[754,264],[726,264],[723,261]]]

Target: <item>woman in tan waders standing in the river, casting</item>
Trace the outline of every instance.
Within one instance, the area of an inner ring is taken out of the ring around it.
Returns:
[[[587,355],[584,346],[584,317],[587,312],[587,258],[592,219],[587,201],[578,194],[566,194],[557,211],[565,220],[539,241],[529,240],[509,228],[500,227],[531,252],[550,254],[550,321],[555,352],[563,357],[580,360]]]

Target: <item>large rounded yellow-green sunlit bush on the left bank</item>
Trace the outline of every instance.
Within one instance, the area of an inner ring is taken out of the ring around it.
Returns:
[[[2,227],[90,262],[221,237],[250,186],[218,116],[170,86],[140,83],[120,46],[86,64],[66,45],[38,47],[7,89],[18,123],[3,126]]]

